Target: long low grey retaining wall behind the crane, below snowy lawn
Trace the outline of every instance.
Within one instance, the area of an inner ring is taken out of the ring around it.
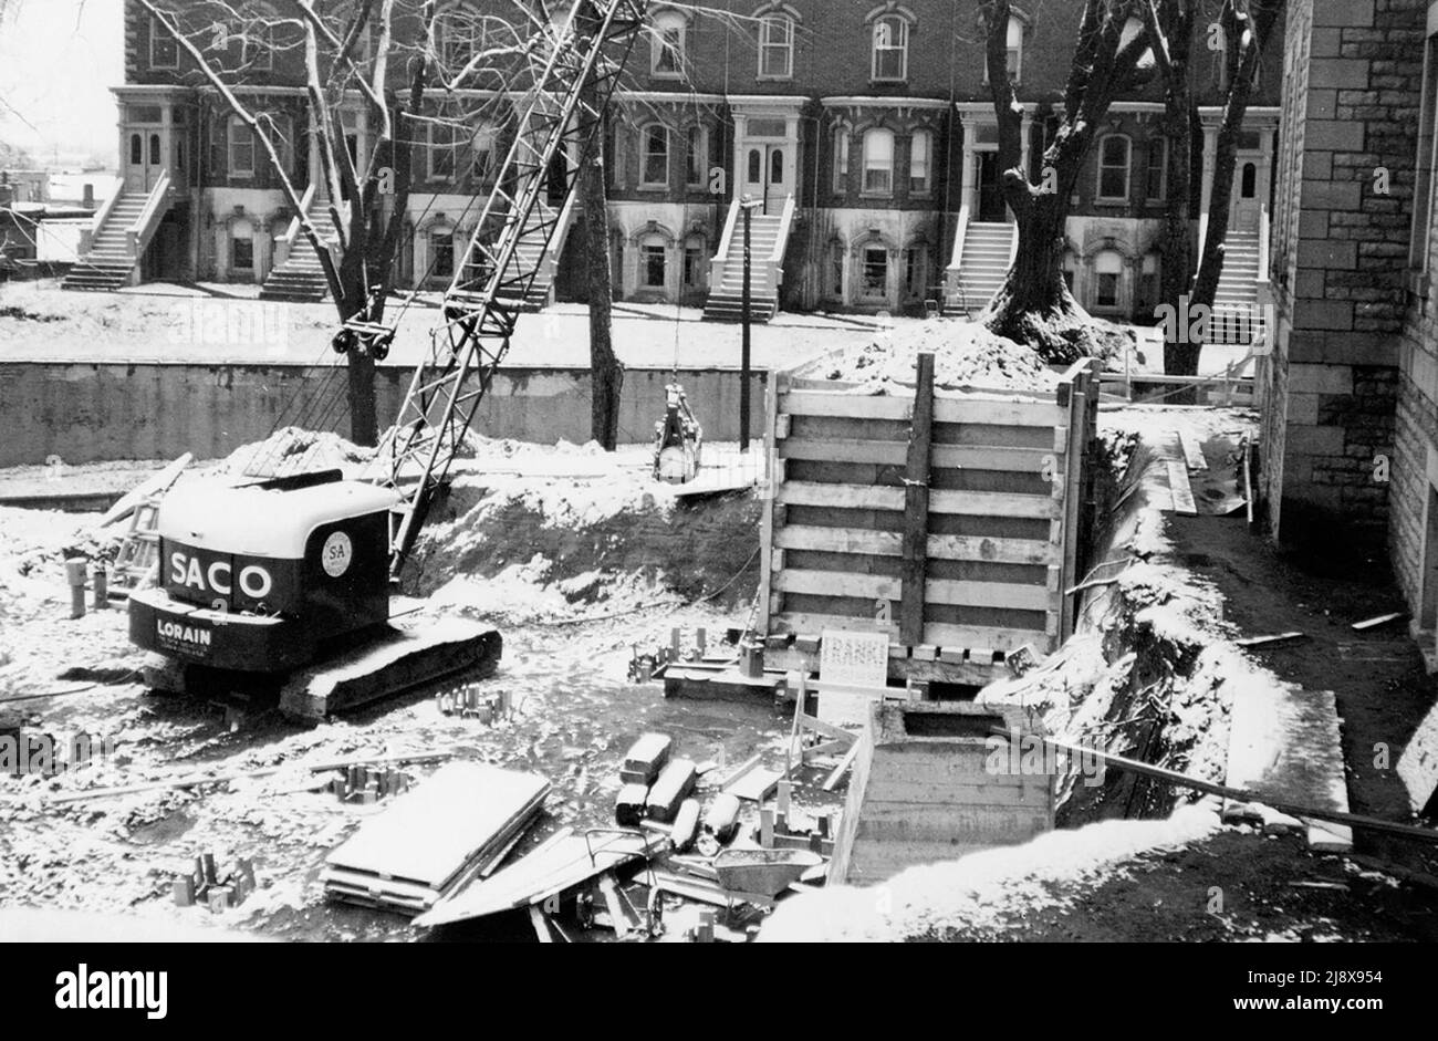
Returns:
[[[381,428],[393,421],[413,370],[381,367]],[[624,372],[620,441],[647,443],[664,414],[670,370]],[[679,382],[707,440],[739,436],[739,372],[680,370]],[[0,362],[0,466],[217,459],[267,437],[280,423],[348,433],[342,368],[170,362]],[[749,430],[764,427],[768,375],[751,374]],[[301,407],[303,403],[303,407]],[[332,403],[332,407],[328,407]],[[325,413],[329,418],[324,420]],[[480,403],[475,428],[489,437],[552,444],[590,440],[590,374],[572,368],[505,368]]]

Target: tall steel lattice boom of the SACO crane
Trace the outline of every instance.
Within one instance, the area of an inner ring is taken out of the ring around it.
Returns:
[[[518,134],[444,293],[444,324],[381,444],[384,483],[401,499],[391,520],[391,578],[414,548],[554,244],[564,207],[545,207],[541,196],[552,187],[555,158],[575,160],[564,164],[568,201],[646,7],[647,0],[580,0],[548,53],[531,58],[533,82]]]

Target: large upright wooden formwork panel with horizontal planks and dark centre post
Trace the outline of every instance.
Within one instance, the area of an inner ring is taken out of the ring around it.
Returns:
[[[982,683],[1073,631],[1091,525],[1100,364],[1047,393],[900,394],[777,374],[762,529],[765,633],[884,631],[890,676]]]

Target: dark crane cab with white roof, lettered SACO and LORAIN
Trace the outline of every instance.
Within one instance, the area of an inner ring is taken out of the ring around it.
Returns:
[[[129,637],[187,664],[285,671],[390,615],[394,492],[338,470],[194,483],[160,506],[158,585],[129,598]]]

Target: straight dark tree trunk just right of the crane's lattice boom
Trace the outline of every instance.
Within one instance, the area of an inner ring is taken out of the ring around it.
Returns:
[[[598,91],[592,79],[585,83],[584,101],[598,109]],[[580,170],[580,203],[584,208],[584,269],[590,296],[590,437],[605,451],[614,451],[620,437],[620,391],[624,365],[614,355],[610,312],[614,282],[610,272],[610,211],[604,190],[604,121],[591,131],[588,155]]]

